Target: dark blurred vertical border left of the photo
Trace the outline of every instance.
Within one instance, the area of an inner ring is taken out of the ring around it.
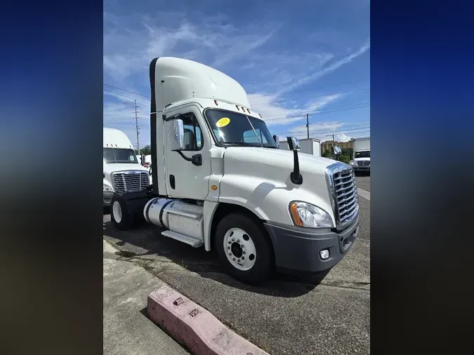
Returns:
[[[2,4],[0,354],[102,354],[102,1]]]

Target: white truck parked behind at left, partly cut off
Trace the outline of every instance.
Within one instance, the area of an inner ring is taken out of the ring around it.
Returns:
[[[147,169],[140,165],[125,133],[104,127],[104,203],[109,206],[114,192],[142,191],[150,185]]]

